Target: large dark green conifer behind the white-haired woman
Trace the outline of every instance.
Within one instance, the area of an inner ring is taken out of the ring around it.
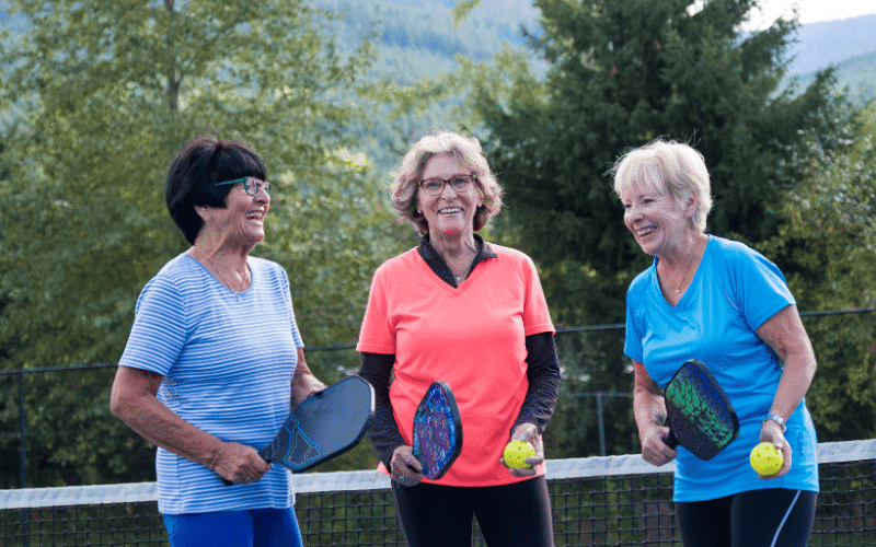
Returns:
[[[509,214],[527,226],[523,249],[544,265],[574,260],[599,274],[588,292],[606,293],[612,306],[590,310],[590,323],[620,318],[630,275],[619,272],[648,264],[606,176],[621,154],[660,136],[691,142],[712,173],[711,231],[760,241],[776,232],[773,203],[797,175],[776,165],[800,131],[823,135],[833,123],[830,72],[797,97],[774,96],[794,24],[744,37],[737,26],[753,0],[715,0],[693,15],[690,3],[538,1],[546,80],[495,63],[504,88],[488,74],[471,95]]]

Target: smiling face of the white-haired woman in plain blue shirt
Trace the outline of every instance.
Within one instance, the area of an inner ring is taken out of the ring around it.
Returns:
[[[656,184],[633,182],[621,194],[623,222],[636,243],[650,256],[673,256],[684,252],[684,245],[694,234],[691,217],[696,197],[691,194],[685,205]]]

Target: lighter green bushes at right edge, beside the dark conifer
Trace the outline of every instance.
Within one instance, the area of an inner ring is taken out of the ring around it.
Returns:
[[[805,176],[782,200],[787,223],[759,246],[794,265],[786,275],[803,311],[876,306],[876,107],[860,114],[852,137],[835,155],[814,147],[796,159]],[[819,440],[872,438],[873,313],[811,317],[805,325],[819,363],[807,396]]]

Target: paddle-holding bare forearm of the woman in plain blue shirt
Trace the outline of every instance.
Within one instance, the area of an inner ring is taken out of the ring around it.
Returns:
[[[645,365],[633,361],[635,386],[633,387],[633,412],[638,428],[638,440],[642,443],[642,458],[649,464],[660,466],[678,456],[678,451],[664,442],[669,434],[666,421],[666,401],[664,392],[657,385]]]

